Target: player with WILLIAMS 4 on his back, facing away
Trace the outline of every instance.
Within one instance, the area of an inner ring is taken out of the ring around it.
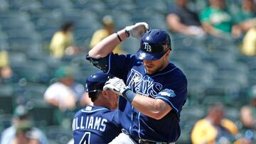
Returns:
[[[118,96],[110,90],[102,90],[109,74],[96,72],[87,77],[87,92],[94,106],[86,106],[73,118],[75,144],[110,143],[121,133],[117,110]]]

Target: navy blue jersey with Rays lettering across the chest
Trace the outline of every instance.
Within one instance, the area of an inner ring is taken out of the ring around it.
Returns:
[[[156,120],[140,113],[120,97],[119,120],[132,138],[170,143],[178,139],[181,133],[180,113],[187,94],[187,80],[178,67],[169,63],[161,72],[149,75],[146,74],[142,60],[137,60],[134,55],[110,54],[108,73],[124,79],[133,92],[166,101],[172,108],[164,118]]]

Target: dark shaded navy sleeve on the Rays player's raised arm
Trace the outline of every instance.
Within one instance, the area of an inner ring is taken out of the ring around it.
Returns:
[[[135,55],[110,54],[108,61],[108,74],[113,74],[120,79],[126,79],[127,73],[138,60]]]

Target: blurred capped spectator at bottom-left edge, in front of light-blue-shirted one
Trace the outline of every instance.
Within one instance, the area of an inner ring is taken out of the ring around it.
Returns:
[[[29,121],[22,121],[18,124],[16,136],[11,140],[11,144],[40,144],[36,135],[31,131],[32,126]]]

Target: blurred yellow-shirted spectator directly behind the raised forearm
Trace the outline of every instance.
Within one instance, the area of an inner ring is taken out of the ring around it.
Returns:
[[[112,16],[104,16],[102,18],[102,26],[100,30],[95,31],[92,35],[92,40],[90,41],[90,48],[94,48],[97,43],[99,43],[104,38],[107,38],[107,36],[114,33],[114,20]],[[114,48],[114,53],[124,53],[120,45],[117,45],[116,48]]]

